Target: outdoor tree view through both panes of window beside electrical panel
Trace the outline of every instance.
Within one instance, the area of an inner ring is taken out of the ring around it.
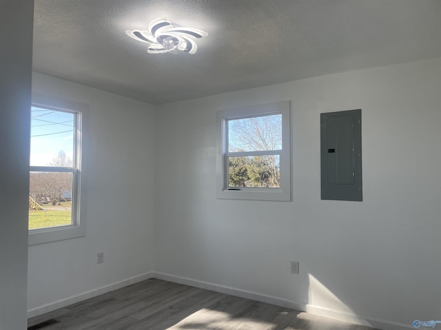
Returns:
[[[228,120],[228,186],[280,187],[282,115]]]

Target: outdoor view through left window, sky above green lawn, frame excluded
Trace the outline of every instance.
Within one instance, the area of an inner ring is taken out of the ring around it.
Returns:
[[[29,229],[72,224],[74,116],[31,108]]]

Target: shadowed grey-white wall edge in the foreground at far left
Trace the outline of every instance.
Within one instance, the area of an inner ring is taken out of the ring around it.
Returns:
[[[0,4],[0,330],[26,329],[33,5]]]

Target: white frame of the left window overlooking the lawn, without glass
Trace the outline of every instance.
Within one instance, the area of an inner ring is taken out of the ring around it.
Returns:
[[[37,245],[85,236],[85,217],[83,217],[84,207],[83,201],[81,200],[81,180],[83,179],[81,152],[83,145],[83,122],[85,113],[88,112],[88,107],[82,103],[40,95],[32,95],[32,107],[74,113],[74,129],[76,131],[74,133],[74,156],[72,157],[74,166],[72,168],[30,166],[30,172],[72,173],[72,224],[28,230],[28,245]]]

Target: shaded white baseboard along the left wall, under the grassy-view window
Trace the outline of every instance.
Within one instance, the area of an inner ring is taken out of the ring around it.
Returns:
[[[127,287],[127,285],[131,285],[134,283],[138,283],[144,280],[147,280],[148,278],[155,277],[155,273],[153,272],[147,272],[141,275],[133,276],[130,278],[125,278],[122,281],[118,281],[109,285],[105,285],[103,287],[99,287],[96,289],[92,289],[88,292],[83,292],[81,294],[76,294],[74,296],[70,296],[68,298],[64,298],[61,300],[57,300],[54,303],[42,305],[39,307],[35,307],[28,310],[28,318],[34,318],[35,316],[39,316],[42,314],[49,313],[50,311],[54,311],[59,308],[63,308],[75,303],[79,303],[80,301],[93,298],[96,296],[99,296],[101,294],[107,294],[107,292],[114,291],[116,289],[121,289],[121,287]]]

